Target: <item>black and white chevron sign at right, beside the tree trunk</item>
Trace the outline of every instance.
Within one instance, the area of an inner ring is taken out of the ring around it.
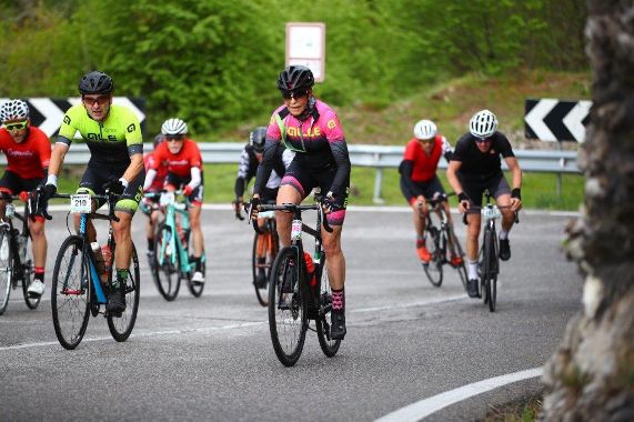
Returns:
[[[583,142],[592,101],[526,99],[524,129],[527,139]]]

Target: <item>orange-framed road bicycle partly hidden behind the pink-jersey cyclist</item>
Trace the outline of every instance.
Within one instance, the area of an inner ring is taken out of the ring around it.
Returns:
[[[258,213],[258,219],[263,219],[264,224],[262,228],[258,224],[253,225],[255,234],[253,235],[251,272],[255,297],[262,307],[266,307],[269,304],[269,279],[273,268],[273,260],[280,251],[280,238],[278,235],[278,225],[275,224],[275,211],[262,211]],[[260,274],[263,274],[263,277],[259,277]]]

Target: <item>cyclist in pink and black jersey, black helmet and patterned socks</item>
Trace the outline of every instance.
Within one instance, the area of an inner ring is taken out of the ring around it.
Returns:
[[[295,157],[282,179],[278,204],[299,204],[313,188],[326,192],[326,219],[333,232],[322,230],[322,238],[332,288],[331,336],[340,340],[345,335],[345,259],[341,250],[341,229],[345,219],[351,165],[339,118],[330,105],[314,97],[313,84],[314,77],[306,67],[290,66],[280,73],[278,89],[284,104],[273,112],[266,131],[264,157],[255,177],[252,205],[260,202],[280,143],[295,151]],[[255,207],[252,209],[255,210]],[[278,213],[282,245],[291,243],[292,218],[290,213]]]

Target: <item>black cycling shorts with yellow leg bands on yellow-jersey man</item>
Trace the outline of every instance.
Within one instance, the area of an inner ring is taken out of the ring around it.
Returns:
[[[98,163],[89,163],[85,169],[77,193],[90,194],[105,194],[103,184],[108,183],[111,179],[119,179],[128,169],[128,164],[117,169],[112,165],[104,165]],[[134,214],[139,208],[139,201],[143,198],[143,181],[145,180],[145,170],[141,170],[139,175],[128,184],[123,194],[114,204],[114,211],[128,212]],[[98,200],[97,208],[101,208],[105,201]]]

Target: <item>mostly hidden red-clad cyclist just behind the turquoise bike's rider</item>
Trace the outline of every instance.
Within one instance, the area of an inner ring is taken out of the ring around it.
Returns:
[[[167,162],[155,162],[154,151],[159,143],[163,142],[165,135],[159,133],[154,137],[154,150],[148,152],[143,155],[143,167],[145,168],[145,173],[150,172],[150,169],[154,167],[157,169],[157,174],[152,184],[148,189],[143,189],[143,193],[157,193],[161,192],[163,184],[165,183],[165,177],[168,175]],[[154,262],[154,231],[159,221],[159,198],[143,197],[139,203],[141,211],[148,215],[148,222],[145,223],[145,238],[148,239],[148,259],[150,263]]]

